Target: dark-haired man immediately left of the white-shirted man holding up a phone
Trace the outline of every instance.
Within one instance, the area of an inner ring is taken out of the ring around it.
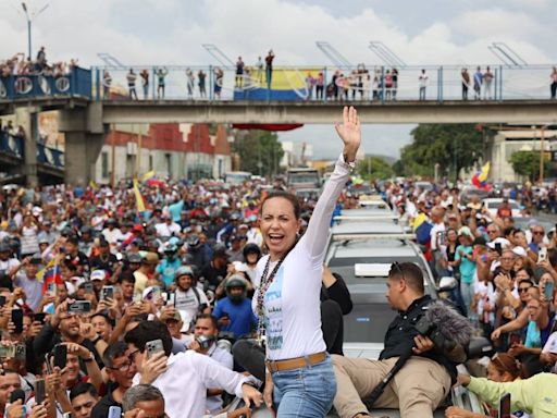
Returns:
[[[122,407],[122,399],[126,391],[132,388],[132,380],[137,372],[135,362],[129,359],[127,344],[119,341],[110,344],[104,351],[107,374],[113,384],[112,390],[99,401],[92,409],[91,418],[106,418],[111,406]]]

